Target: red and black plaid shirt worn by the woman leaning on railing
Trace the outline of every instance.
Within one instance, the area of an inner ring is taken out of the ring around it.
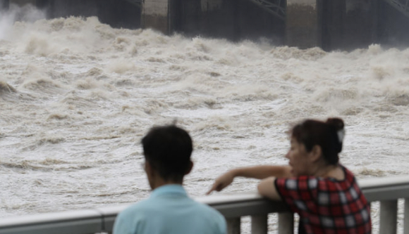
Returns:
[[[277,178],[276,190],[300,215],[299,232],[307,234],[370,234],[370,204],[355,176],[341,166],[345,179],[298,176]]]

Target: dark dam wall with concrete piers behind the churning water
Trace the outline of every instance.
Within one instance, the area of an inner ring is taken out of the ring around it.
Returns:
[[[43,8],[47,18],[96,15],[112,27],[326,51],[409,44],[409,0],[0,0],[10,4]]]

